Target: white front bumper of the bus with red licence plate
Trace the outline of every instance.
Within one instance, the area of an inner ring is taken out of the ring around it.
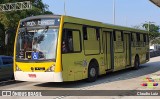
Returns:
[[[31,82],[63,82],[62,72],[14,72],[15,80]]]

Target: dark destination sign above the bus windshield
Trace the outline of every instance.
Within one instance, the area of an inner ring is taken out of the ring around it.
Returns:
[[[59,26],[60,19],[34,19],[21,22],[21,27],[33,27],[33,26]]]

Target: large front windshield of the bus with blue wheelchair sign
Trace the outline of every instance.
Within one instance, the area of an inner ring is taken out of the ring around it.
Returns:
[[[56,58],[58,28],[21,28],[16,44],[16,59],[52,60]]]

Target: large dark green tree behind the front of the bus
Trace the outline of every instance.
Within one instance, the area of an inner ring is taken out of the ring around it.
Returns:
[[[0,3],[14,3],[22,2],[23,0],[1,0]],[[2,23],[3,28],[3,37],[6,31],[10,34],[10,40],[6,46],[6,49],[11,49],[8,52],[8,55],[13,54],[14,38],[16,33],[16,28],[20,19],[43,15],[43,14],[53,14],[48,10],[48,5],[44,4],[42,0],[27,0],[32,2],[32,9],[30,10],[21,10],[21,11],[11,11],[11,12],[0,12],[0,23]],[[1,28],[0,28],[1,29]],[[4,42],[4,41],[3,41]]]

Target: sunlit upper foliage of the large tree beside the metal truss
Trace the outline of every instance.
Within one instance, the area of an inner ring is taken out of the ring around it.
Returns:
[[[8,2],[22,2],[23,0],[2,0],[3,3]],[[43,4],[42,0],[29,0],[32,2],[33,8],[31,10],[21,10],[21,11],[11,11],[0,13],[0,22],[3,23],[5,29],[16,28],[20,19],[42,15],[42,14],[52,14],[52,12],[47,11],[48,5]]]

